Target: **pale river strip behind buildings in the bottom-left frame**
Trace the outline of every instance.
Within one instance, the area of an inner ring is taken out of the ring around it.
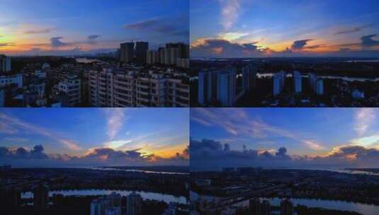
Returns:
[[[117,192],[122,196],[127,196],[132,191],[130,190],[55,190],[50,191],[49,196],[52,197],[54,194],[62,194],[64,196],[98,196],[98,195],[108,195],[112,192]],[[181,204],[186,204],[186,197],[176,197],[171,194],[162,194],[157,192],[137,192],[142,196],[143,199],[153,199],[164,202],[177,202]],[[33,192],[23,192],[21,198],[33,198]]]

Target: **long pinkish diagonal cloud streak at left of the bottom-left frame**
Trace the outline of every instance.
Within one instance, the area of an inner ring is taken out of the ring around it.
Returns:
[[[18,129],[23,129],[23,130],[26,130],[28,132],[34,132],[36,134],[47,136],[50,139],[54,139],[55,141],[58,141],[60,144],[63,144],[68,149],[71,149],[74,151],[81,150],[81,147],[77,143],[75,143],[74,141],[71,141],[71,140],[65,139],[65,138],[61,138],[57,134],[52,133],[43,127],[38,127],[35,124],[29,124],[28,122],[23,122],[23,120],[19,120],[18,118],[13,117],[11,115],[6,115],[4,113],[0,113],[0,120],[8,125],[8,131],[16,131]],[[11,130],[9,130],[9,129],[11,129]]]

